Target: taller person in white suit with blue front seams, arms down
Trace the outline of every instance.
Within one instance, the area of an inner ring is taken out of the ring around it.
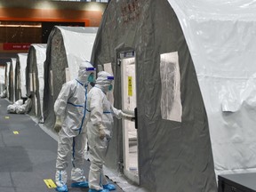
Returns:
[[[54,130],[59,132],[58,155],[56,160],[55,181],[56,190],[67,192],[68,156],[72,151],[71,187],[88,188],[84,177],[84,148],[86,143],[86,129],[84,118],[86,115],[87,93],[95,79],[95,68],[89,62],[82,62],[79,66],[78,77],[62,85],[60,94],[54,103],[56,123]]]

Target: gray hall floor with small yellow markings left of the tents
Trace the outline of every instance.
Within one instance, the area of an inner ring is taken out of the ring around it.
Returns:
[[[56,140],[46,134],[29,116],[7,114],[6,108],[9,104],[7,100],[0,99],[0,191],[55,191],[54,188],[48,188],[44,180],[54,181]],[[85,161],[86,177],[89,166],[90,162]],[[69,166],[68,172],[70,169]],[[68,180],[68,191],[85,192],[88,189],[71,188]],[[116,186],[116,192],[121,191],[123,190]]]

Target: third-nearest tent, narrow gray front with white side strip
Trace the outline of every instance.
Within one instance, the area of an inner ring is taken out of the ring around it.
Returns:
[[[29,115],[36,116],[40,123],[44,122],[44,60],[46,59],[46,44],[31,44],[28,50],[26,69],[26,89],[32,100]]]

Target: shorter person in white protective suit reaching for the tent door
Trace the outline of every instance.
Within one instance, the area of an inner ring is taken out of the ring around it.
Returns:
[[[89,192],[108,192],[116,186],[108,183],[103,174],[103,164],[111,139],[113,116],[132,120],[132,116],[118,110],[107,99],[107,92],[112,90],[114,76],[100,71],[95,86],[88,93],[86,128],[90,152]]]

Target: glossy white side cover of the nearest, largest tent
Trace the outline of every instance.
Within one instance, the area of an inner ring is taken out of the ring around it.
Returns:
[[[216,174],[255,172],[255,4],[169,0],[195,63]]]

